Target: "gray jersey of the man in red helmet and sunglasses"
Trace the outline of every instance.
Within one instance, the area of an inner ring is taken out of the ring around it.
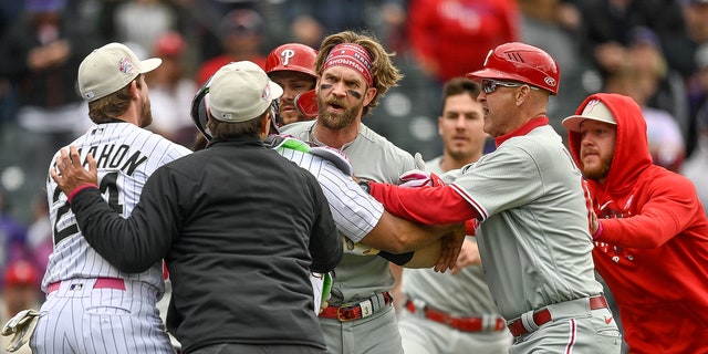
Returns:
[[[551,126],[511,137],[442,178],[483,218],[477,242],[504,319],[602,293],[581,173]]]

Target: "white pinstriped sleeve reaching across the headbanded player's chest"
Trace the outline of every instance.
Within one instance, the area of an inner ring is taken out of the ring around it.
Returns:
[[[358,242],[378,223],[384,214],[384,206],[333,163],[290,148],[280,147],[277,152],[317,178],[330,202],[334,223],[344,237]]]

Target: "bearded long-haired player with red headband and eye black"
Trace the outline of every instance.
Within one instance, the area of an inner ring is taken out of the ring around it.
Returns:
[[[400,80],[389,55],[366,35],[344,31],[327,37],[315,61],[317,119],[287,125],[283,133],[341,149],[360,180],[400,183],[402,174],[416,168],[413,156],[362,124],[378,97]],[[394,285],[388,262],[344,254],[335,274],[330,306],[320,314],[327,350],[403,353],[388,292]]]

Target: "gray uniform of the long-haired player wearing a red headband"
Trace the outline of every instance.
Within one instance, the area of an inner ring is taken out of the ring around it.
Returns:
[[[322,145],[313,134],[316,121],[285,125],[282,131],[296,138]],[[413,156],[396,147],[383,136],[360,124],[356,138],[344,145],[342,150],[348,156],[354,175],[361,180],[399,184],[399,176],[416,168]],[[344,254],[335,268],[330,304],[355,303],[388,291],[394,278],[388,261],[381,257]],[[372,316],[351,322],[322,319],[327,348],[332,353],[402,353],[400,335],[392,306]],[[342,335],[343,332],[348,333]]]

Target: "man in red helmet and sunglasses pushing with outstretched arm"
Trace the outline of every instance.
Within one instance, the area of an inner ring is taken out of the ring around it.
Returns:
[[[545,116],[558,64],[511,42],[467,76],[481,83],[483,127],[496,150],[442,175],[449,185],[369,183],[372,195],[425,223],[481,222],[476,236],[489,291],[514,336],[509,353],[620,353],[620,331],[594,278],[582,175]]]

